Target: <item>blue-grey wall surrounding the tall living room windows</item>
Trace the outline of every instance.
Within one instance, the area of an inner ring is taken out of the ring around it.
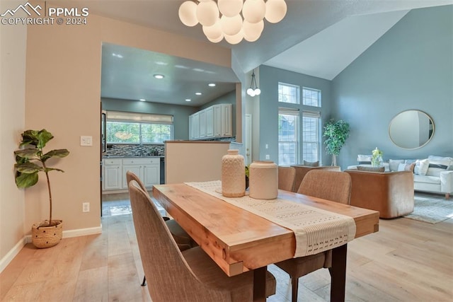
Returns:
[[[269,154],[270,161],[278,163],[278,109],[292,108],[299,109],[302,118],[303,110],[318,111],[319,108],[311,106],[296,105],[289,103],[278,102],[278,83],[288,83],[302,87],[315,88],[321,90],[321,128],[324,122],[331,117],[332,98],[331,98],[331,81],[316,78],[314,76],[307,76],[305,74],[298,74],[296,72],[287,71],[284,69],[277,69],[270,66],[262,65],[259,70],[260,83],[258,86],[261,89],[259,99],[256,98],[253,102],[259,102],[260,110],[260,146],[259,146],[259,160],[264,161],[265,155]],[[301,99],[302,102],[302,99]],[[302,124],[302,120],[301,123]],[[302,129],[299,131],[299,141],[302,142]],[[268,149],[265,145],[268,144]],[[324,146],[321,143],[321,163],[323,165],[330,165],[331,158],[326,156]],[[301,150],[302,154],[302,150]],[[258,160],[254,158],[254,160]],[[300,158],[302,162],[302,156]]]

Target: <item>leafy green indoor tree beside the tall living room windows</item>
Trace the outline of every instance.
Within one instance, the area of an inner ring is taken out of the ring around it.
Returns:
[[[337,165],[337,156],[349,137],[349,124],[343,120],[329,120],[324,126],[323,137],[326,137],[326,151],[332,155],[332,165]]]

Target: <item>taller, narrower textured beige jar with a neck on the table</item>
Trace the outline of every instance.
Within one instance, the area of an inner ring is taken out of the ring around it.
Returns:
[[[246,166],[239,150],[230,149],[222,157],[222,195],[243,197],[246,194]]]

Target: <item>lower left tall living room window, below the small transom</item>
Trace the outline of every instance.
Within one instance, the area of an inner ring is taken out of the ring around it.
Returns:
[[[295,165],[299,161],[299,111],[278,111],[278,164]]]

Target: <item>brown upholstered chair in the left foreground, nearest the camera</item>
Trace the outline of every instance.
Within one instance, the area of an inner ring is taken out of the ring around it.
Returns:
[[[134,180],[129,194],[152,301],[252,301],[253,272],[228,277],[200,247],[181,252],[149,194]],[[275,294],[275,277],[270,272],[265,294]]]

